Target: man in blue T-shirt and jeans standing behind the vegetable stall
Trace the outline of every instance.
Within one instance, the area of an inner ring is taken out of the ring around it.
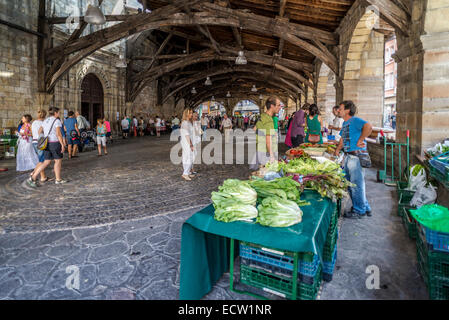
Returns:
[[[365,193],[365,173],[360,164],[360,156],[367,154],[366,137],[371,134],[373,127],[367,121],[354,117],[357,108],[352,101],[340,103],[338,114],[343,118],[343,126],[340,131],[340,142],[335,155],[343,149],[345,153],[344,168],[347,179],[355,184],[349,188],[349,195],[352,200],[352,209],[345,213],[346,218],[363,218],[365,215],[371,216],[371,207],[366,199]]]

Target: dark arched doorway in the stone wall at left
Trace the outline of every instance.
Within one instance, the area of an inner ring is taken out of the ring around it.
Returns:
[[[81,83],[81,114],[95,127],[97,119],[104,117],[104,93],[100,79],[87,74]]]

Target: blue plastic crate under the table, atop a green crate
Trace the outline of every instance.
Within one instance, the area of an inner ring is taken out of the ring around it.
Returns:
[[[240,257],[261,262],[273,267],[284,269],[286,274],[293,272],[293,257],[276,254],[261,248],[252,247],[240,242]],[[314,277],[321,262],[318,255],[314,255],[312,262],[298,261],[298,272],[304,276]]]

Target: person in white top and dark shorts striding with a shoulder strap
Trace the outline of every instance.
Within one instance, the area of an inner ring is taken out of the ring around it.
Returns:
[[[66,183],[66,180],[61,178],[62,169],[62,155],[65,151],[65,146],[62,140],[62,123],[59,120],[59,108],[51,107],[48,111],[50,117],[45,119],[42,127],[39,129],[39,133],[43,133],[45,137],[48,137],[47,148],[44,150],[45,161],[39,164],[33,172],[33,175],[27,180],[30,187],[37,187],[37,176],[48,167],[52,160],[55,161],[54,171],[56,177],[56,184]]]

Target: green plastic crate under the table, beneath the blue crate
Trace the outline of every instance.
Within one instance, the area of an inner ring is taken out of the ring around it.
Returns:
[[[312,285],[307,285],[301,282],[297,283],[298,286],[298,299],[299,300],[315,300],[318,294],[322,272],[319,268]],[[291,278],[273,275],[263,270],[252,268],[244,264],[240,265],[240,282],[253,286],[262,290],[275,291],[282,294],[285,298],[292,298],[292,280]]]

